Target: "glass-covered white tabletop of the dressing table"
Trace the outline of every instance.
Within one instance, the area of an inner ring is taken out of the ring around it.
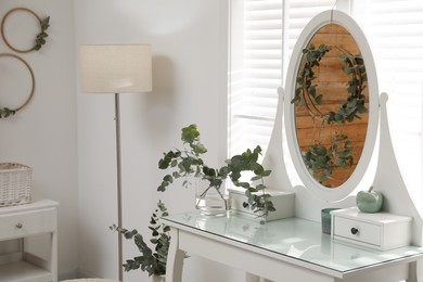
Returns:
[[[260,225],[236,215],[205,217],[194,211],[170,215],[163,220],[178,229],[214,234],[343,273],[394,260],[416,260],[423,257],[423,248],[416,246],[380,252],[334,241],[329,234],[321,232],[319,222],[300,218]]]

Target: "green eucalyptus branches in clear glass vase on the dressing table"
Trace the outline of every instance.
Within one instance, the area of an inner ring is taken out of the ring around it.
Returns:
[[[226,164],[220,168],[213,168],[207,166],[202,158],[207,149],[200,141],[200,131],[196,125],[182,128],[181,140],[183,149],[175,149],[164,153],[164,157],[158,162],[159,169],[172,169],[172,171],[163,177],[157,191],[166,191],[179,178],[184,179],[182,187],[188,188],[191,184],[191,178],[195,178],[206,183],[205,190],[196,198],[196,206],[198,207],[203,200],[206,202],[207,193],[216,192],[217,197],[220,197],[225,203],[222,209],[226,213],[228,205],[222,184],[226,179],[230,179],[235,187],[245,190],[247,197],[247,202],[244,203],[245,208],[253,209],[261,217],[275,210],[270,194],[265,191],[264,179],[270,175],[271,170],[266,170],[258,163],[258,157],[261,154],[260,146],[257,145],[254,150],[247,149],[244,153],[226,161]],[[249,181],[242,180],[244,172],[252,175]],[[216,197],[213,203],[216,203]]]

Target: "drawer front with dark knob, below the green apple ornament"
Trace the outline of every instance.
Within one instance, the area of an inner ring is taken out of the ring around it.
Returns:
[[[375,246],[381,245],[381,226],[336,217],[334,235],[359,241]]]

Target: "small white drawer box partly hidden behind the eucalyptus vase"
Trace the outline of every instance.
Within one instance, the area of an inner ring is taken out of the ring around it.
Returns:
[[[248,208],[244,208],[243,203],[248,202],[245,196],[245,191],[238,189],[228,189],[229,191],[229,204],[231,210],[245,216],[257,217],[259,214],[254,213]],[[271,202],[273,203],[275,211],[270,211],[266,217],[266,221],[293,217],[295,214],[295,193],[294,192],[282,192],[282,191],[269,191],[266,193],[270,194]]]

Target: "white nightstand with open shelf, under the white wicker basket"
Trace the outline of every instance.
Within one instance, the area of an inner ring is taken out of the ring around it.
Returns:
[[[57,205],[42,200],[0,208],[0,241],[17,240],[21,245],[18,249],[0,254],[0,281],[57,281]],[[28,239],[35,235],[47,236],[48,259],[28,251]]]

